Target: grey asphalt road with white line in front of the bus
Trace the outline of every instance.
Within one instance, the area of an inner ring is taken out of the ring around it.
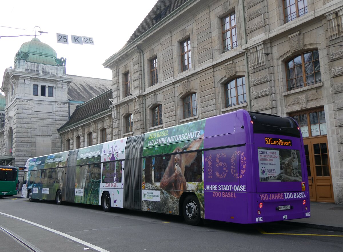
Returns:
[[[177,216],[100,206],[0,199],[0,251],[343,251],[343,233],[283,222],[241,225],[206,221],[189,226]]]

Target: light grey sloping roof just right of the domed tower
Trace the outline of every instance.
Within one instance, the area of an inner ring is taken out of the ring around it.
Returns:
[[[68,100],[87,101],[112,88],[112,80],[67,74],[74,80],[69,84]],[[110,97],[112,98],[112,97]]]

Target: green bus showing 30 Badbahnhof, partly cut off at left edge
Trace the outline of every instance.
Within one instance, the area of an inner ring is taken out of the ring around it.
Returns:
[[[19,168],[16,166],[0,165],[0,198],[19,193]]]

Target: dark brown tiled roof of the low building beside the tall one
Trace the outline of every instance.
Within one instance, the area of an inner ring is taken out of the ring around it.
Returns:
[[[68,127],[69,125],[73,125],[77,122],[80,122],[86,118],[90,118],[91,116],[97,115],[98,113],[109,109],[109,106],[112,104],[112,102],[109,100],[111,98],[112,88],[94,97],[93,99],[78,105],[70,116],[69,121],[66,122],[61,128],[59,128],[58,132]]]

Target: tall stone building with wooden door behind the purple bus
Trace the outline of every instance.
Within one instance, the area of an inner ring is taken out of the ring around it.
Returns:
[[[159,0],[104,62],[111,139],[237,109],[292,116],[311,200],[343,204],[342,27],[338,0]]]

